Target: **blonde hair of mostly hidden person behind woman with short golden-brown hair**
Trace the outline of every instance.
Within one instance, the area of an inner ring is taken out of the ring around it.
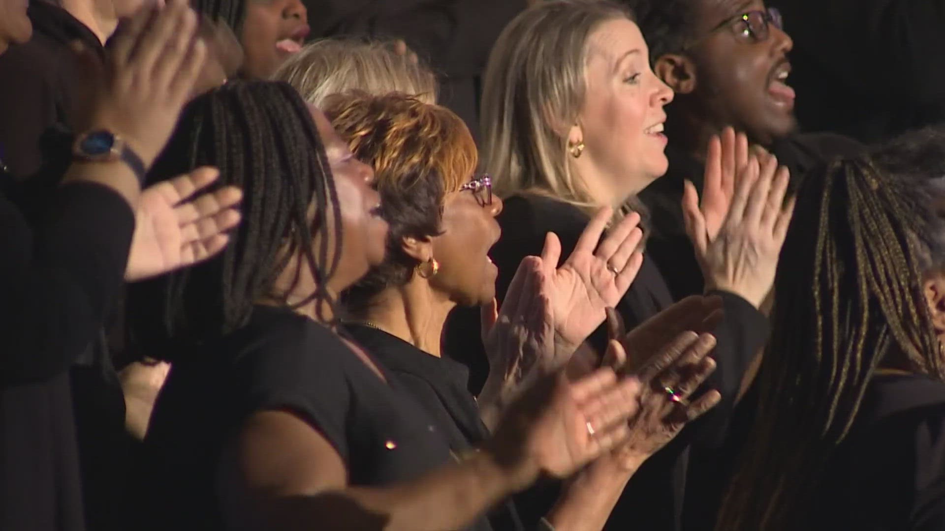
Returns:
[[[409,50],[399,54],[394,42],[364,43],[326,39],[306,44],[273,75],[296,88],[320,108],[325,97],[352,89],[382,95],[401,92],[424,103],[437,102],[437,79]]]

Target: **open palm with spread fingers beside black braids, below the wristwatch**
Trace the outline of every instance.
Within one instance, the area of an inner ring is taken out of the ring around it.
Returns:
[[[200,194],[219,173],[198,168],[142,192],[135,212],[125,280],[144,280],[214,256],[227,245],[226,231],[239,223],[239,189]]]

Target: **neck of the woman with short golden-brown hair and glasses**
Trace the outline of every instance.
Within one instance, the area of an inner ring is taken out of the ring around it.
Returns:
[[[438,294],[422,279],[387,288],[370,301],[356,320],[368,322],[428,354],[441,357],[440,343],[446,317],[455,302]]]

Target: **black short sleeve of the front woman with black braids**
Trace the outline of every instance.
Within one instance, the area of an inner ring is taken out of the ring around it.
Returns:
[[[346,426],[352,393],[342,356],[353,354],[334,334],[306,320],[295,317],[291,326],[268,334],[239,365],[239,379],[249,388],[246,413],[292,413],[325,437],[348,463]]]

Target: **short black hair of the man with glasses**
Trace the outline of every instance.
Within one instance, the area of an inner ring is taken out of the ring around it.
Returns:
[[[633,11],[649,47],[650,61],[681,54],[696,41],[698,0],[620,0]]]

